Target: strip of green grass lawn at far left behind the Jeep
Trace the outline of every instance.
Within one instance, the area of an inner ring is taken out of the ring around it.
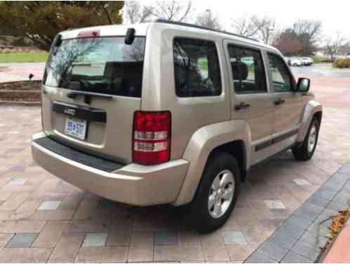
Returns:
[[[47,57],[48,53],[45,51],[0,54],[0,63],[44,63]]]

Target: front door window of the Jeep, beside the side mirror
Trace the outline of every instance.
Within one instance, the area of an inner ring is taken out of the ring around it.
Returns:
[[[293,90],[293,79],[285,62],[279,56],[268,54],[274,92],[290,92]]]

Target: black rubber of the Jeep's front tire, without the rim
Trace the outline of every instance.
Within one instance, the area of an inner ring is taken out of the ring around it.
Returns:
[[[311,127],[313,127],[313,125],[316,126],[316,142],[315,142],[315,145],[313,146],[313,149],[310,151],[308,144],[309,144]],[[302,142],[302,145],[294,146],[292,148],[293,156],[297,161],[309,161],[309,159],[313,156],[313,153],[315,153],[317,142],[318,142],[319,130],[320,130],[320,123],[318,122],[317,118],[313,118],[313,120],[310,123],[308,132],[306,133],[304,142]]]

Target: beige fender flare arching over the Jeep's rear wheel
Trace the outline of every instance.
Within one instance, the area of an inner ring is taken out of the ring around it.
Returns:
[[[201,127],[190,138],[183,159],[190,162],[179,196],[172,203],[181,206],[190,203],[195,196],[207,159],[213,149],[223,144],[241,140],[245,146],[246,168],[250,164],[252,144],[249,125],[244,120],[229,120]]]

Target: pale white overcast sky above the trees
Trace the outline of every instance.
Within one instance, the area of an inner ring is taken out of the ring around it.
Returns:
[[[152,1],[142,2],[146,4]],[[231,30],[234,18],[242,15],[268,15],[276,18],[280,28],[291,26],[299,18],[320,20],[323,34],[327,37],[335,37],[337,32],[341,32],[344,37],[350,39],[349,0],[193,0],[193,4],[196,14],[211,9],[227,31]]]

